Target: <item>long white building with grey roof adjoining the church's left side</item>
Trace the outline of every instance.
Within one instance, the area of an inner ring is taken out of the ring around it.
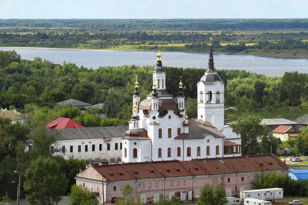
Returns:
[[[110,163],[121,161],[122,137],[128,126],[46,129],[55,134],[56,142],[51,149],[57,149],[55,155],[65,159],[74,156],[90,161],[108,160]]]

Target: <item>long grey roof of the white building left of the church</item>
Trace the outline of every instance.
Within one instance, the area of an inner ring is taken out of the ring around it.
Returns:
[[[46,129],[48,134],[56,134],[56,140],[68,139],[94,139],[124,137],[128,126],[110,126],[110,127],[90,127],[90,128],[68,128],[68,129]],[[34,130],[31,130],[30,134]]]

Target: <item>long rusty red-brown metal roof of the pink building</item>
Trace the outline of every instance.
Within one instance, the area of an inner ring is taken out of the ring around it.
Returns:
[[[261,165],[260,165],[261,163]],[[273,154],[93,166],[107,181],[287,170]]]

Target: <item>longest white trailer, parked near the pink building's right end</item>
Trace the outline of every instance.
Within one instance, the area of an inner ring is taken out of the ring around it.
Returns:
[[[279,200],[283,199],[283,189],[282,188],[272,188],[272,189],[257,189],[257,190],[246,190],[240,191],[240,199],[243,201],[245,198],[255,198],[260,200]]]

